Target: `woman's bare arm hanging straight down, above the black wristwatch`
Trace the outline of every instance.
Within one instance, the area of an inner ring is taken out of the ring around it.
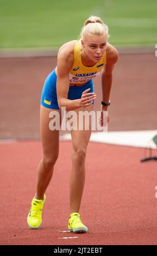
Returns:
[[[106,50],[106,65],[102,70],[102,100],[106,103],[109,102],[110,92],[112,86],[112,71],[118,60],[118,51],[116,48],[108,44]],[[107,110],[108,107],[103,106],[104,110]]]

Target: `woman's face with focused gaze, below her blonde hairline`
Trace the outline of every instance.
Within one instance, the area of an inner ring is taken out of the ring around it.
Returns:
[[[107,47],[107,35],[87,35],[82,45],[86,56],[93,62],[99,62]]]

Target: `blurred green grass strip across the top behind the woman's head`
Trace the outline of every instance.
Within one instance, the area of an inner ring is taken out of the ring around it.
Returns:
[[[0,0],[0,48],[58,48],[100,16],[115,46],[157,44],[156,0]]]

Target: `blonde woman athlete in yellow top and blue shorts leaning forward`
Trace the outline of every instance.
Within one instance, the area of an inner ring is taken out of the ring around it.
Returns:
[[[89,17],[81,29],[80,39],[69,41],[60,47],[57,66],[46,78],[40,108],[43,157],[37,172],[36,194],[27,217],[30,228],[36,229],[41,225],[45,192],[59,155],[59,130],[49,129],[49,113],[57,111],[61,119],[61,107],[65,107],[66,111],[75,111],[77,118],[79,111],[92,111],[96,99],[92,79],[100,74],[101,113],[107,111],[110,105],[112,70],[117,62],[118,52],[108,43],[108,36],[108,26],[99,17]],[[100,122],[103,126],[103,114]],[[89,130],[71,130],[72,171],[68,229],[74,233],[87,232],[87,227],[81,222],[79,209],[85,184],[85,158],[90,136],[91,125]]]

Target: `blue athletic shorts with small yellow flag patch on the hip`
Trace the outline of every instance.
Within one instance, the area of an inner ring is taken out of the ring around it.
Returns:
[[[90,88],[89,93],[94,92],[92,79],[83,86],[70,86],[68,90],[68,99],[77,100],[81,98],[84,90]],[[94,101],[92,102],[94,104]],[[46,78],[41,94],[41,105],[51,109],[60,109],[56,95],[56,74],[53,70]]]

